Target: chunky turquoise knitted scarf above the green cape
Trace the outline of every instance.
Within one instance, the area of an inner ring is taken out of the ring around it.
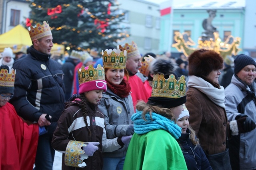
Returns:
[[[152,119],[150,114],[146,113],[145,121],[142,119],[142,111],[138,111],[132,115],[132,121],[134,121],[134,131],[138,134],[145,134],[155,129],[164,129],[168,131],[172,137],[179,139],[181,135],[181,128],[172,120],[159,115],[157,113],[152,113]]]

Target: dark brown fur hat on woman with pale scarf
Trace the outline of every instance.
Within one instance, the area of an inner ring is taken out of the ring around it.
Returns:
[[[213,50],[200,49],[189,56],[188,64],[188,75],[206,77],[211,71],[223,67],[223,59]]]

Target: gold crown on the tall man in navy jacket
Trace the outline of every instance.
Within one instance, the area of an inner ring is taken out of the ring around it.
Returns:
[[[28,27],[28,32],[32,41],[34,39],[40,39],[42,37],[52,35],[51,28],[46,21],[43,22],[43,25],[40,23],[36,23],[34,27],[31,25]]]

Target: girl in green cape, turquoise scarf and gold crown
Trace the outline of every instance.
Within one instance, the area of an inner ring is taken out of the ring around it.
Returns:
[[[187,170],[182,150],[176,139],[181,128],[175,123],[186,102],[186,81],[173,74],[153,77],[152,95],[139,102],[134,121],[134,135],[124,162],[124,170]]]

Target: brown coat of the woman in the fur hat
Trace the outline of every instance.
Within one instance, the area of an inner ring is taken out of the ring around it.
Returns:
[[[224,152],[227,137],[225,109],[214,104],[196,88],[190,87],[186,96],[189,124],[196,131],[203,150],[208,154]]]

